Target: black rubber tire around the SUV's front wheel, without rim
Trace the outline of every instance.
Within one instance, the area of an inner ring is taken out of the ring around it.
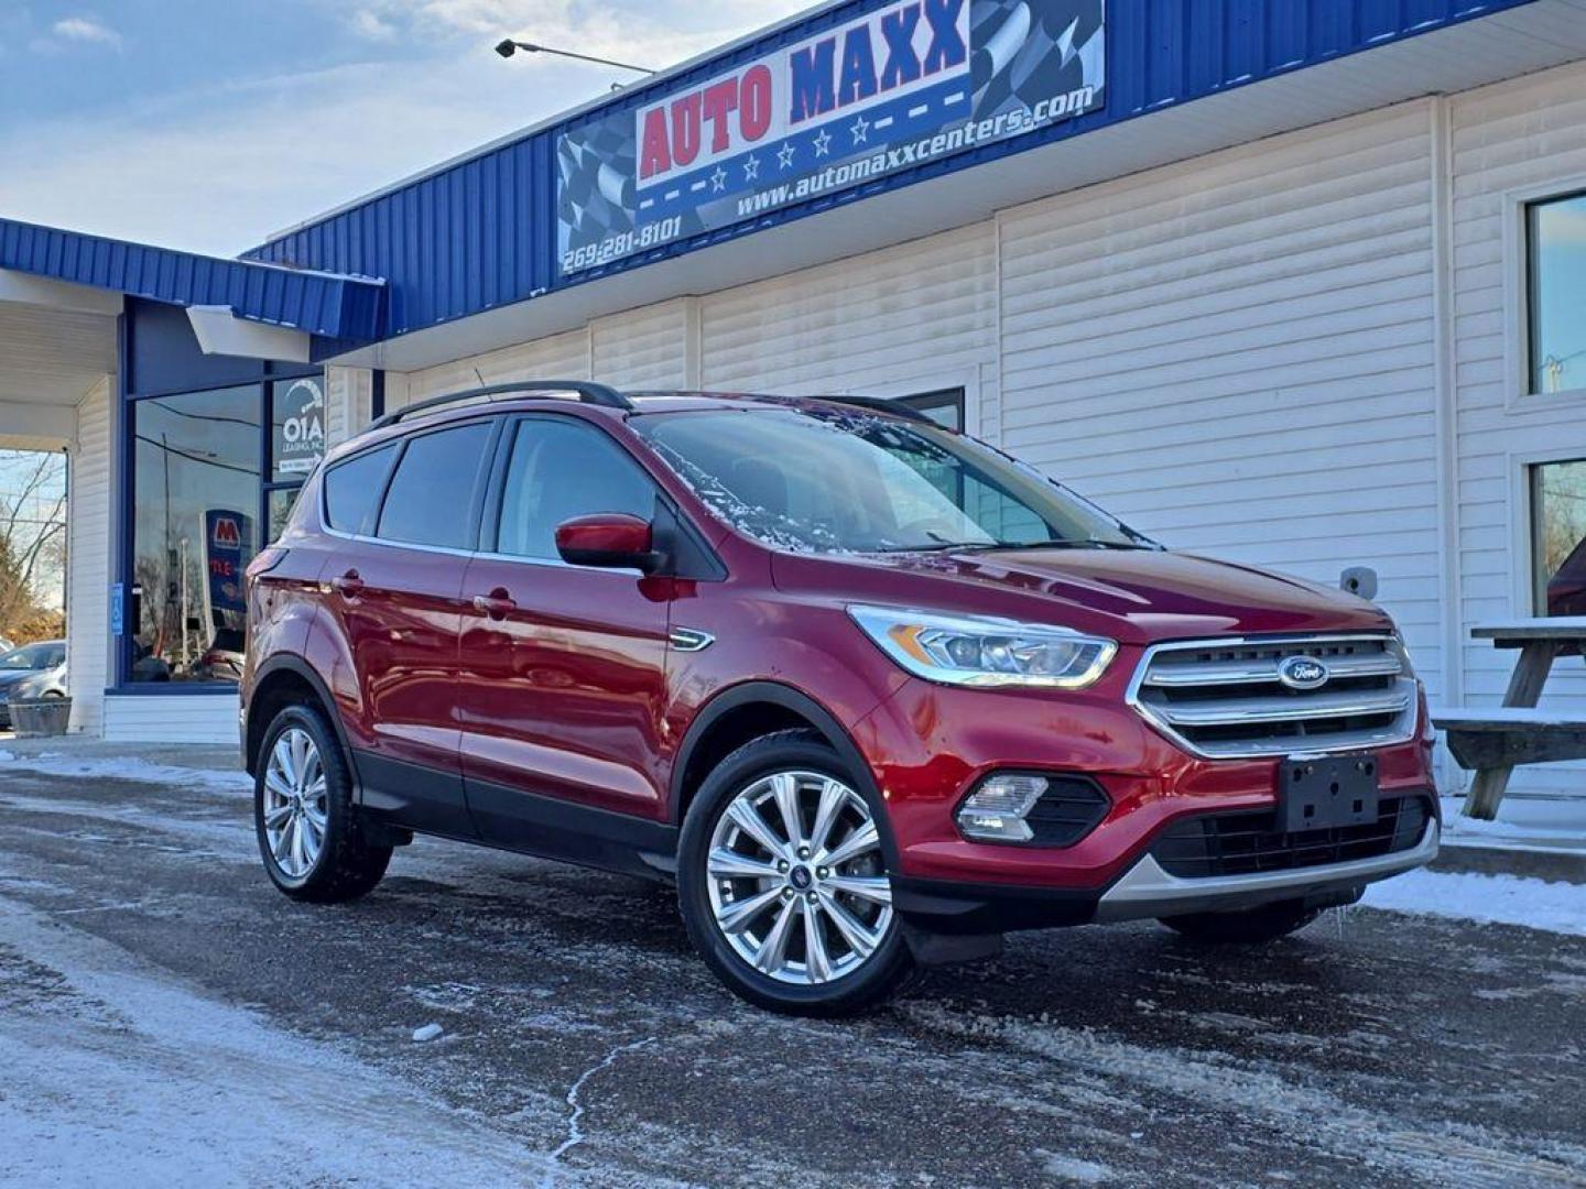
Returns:
[[[847,1016],[864,1011],[896,994],[915,972],[902,926],[891,915],[885,940],[847,975],[820,984],[795,984],[761,973],[728,943],[711,904],[707,856],[717,823],[733,799],[774,772],[806,770],[834,777],[855,789],[890,848],[885,809],[875,804],[864,782],[812,731],[779,731],[733,751],[706,777],[684,820],[677,853],[677,900],[688,937],[717,978],[733,994],[757,1007],[795,1016]],[[885,872],[891,874],[891,872]]]

